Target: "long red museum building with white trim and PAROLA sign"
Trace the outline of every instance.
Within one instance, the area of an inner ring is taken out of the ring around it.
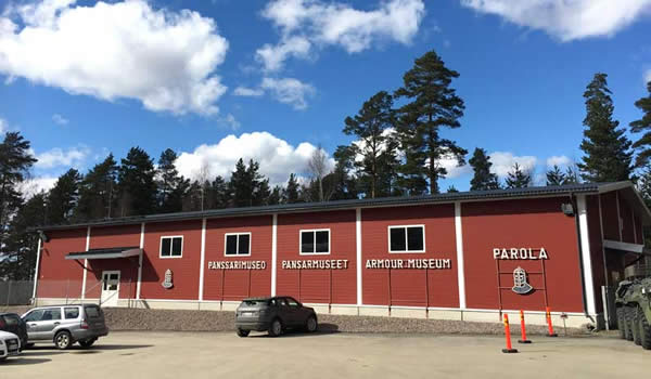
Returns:
[[[319,313],[532,323],[608,318],[603,286],[648,251],[629,182],[106,219],[40,228],[38,304],[234,310],[292,296]]]

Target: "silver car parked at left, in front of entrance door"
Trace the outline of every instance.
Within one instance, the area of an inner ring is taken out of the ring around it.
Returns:
[[[34,342],[54,342],[65,350],[78,342],[90,348],[100,337],[108,335],[104,313],[95,304],[40,306],[25,313],[27,339]]]

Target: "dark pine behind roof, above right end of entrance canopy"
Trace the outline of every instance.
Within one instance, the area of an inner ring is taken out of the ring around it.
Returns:
[[[120,215],[151,214],[156,209],[154,162],[140,147],[131,147],[118,169]]]

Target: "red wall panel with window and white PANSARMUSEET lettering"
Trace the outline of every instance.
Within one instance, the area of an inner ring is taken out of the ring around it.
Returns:
[[[278,215],[277,293],[303,302],[354,304],[357,301],[355,210]],[[301,230],[330,228],[330,254],[301,256]],[[348,260],[344,270],[286,270],[283,260]]]

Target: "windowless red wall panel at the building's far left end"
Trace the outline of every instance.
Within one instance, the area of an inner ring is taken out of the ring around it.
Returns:
[[[84,269],[65,256],[86,250],[87,228],[48,231],[50,240],[43,243],[38,272],[39,298],[68,298],[81,296]]]

